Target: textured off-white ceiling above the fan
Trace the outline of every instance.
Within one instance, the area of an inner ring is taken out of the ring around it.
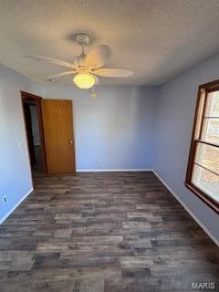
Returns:
[[[88,49],[110,46],[107,67],[134,71],[101,84],[159,85],[219,51],[218,16],[218,0],[0,0],[0,63],[45,82],[65,68],[24,56],[70,61],[72,35],[86,32]]]

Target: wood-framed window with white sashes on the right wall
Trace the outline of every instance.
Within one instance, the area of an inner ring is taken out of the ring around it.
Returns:
[[[219,80],[199,87],[185,185],[219,213]]]

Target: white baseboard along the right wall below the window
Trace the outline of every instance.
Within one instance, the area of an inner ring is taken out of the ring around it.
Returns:
[[[214,235],[212,235],[210,233],[210,231],[203,225],[203,223],[201,221],[199,221],[199,219],[193,214],[193,212],[188,209],[188,207],[183,203],[183,201],[178,197],[178,195],[172,191],[172,189],[169,187],[169,185],[162,180],[161,176],[157,172],[155,172],[154,170],[152,170],[152,172],[165,185],[165,187],[172,193],[172,195],[176,198],[176,200],[182,204],[185,211],[193,217],[194,221],[200,225],[200,227],[203,229],[205,234],[207,234],[214,241],[214,243],[217,246],[219,246],[219,241],[214,237]]]

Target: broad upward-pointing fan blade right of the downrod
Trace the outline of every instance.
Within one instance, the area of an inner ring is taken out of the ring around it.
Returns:
[[[110,48],[105,45],[93,48],[85,58],[85,64],[90,68],[100,68],[110,59]]]

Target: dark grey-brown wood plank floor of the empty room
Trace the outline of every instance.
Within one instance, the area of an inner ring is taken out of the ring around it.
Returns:
[[[218,276],[218,247],[152,172],[38,176],[0,226],[1,292],[218,291]]]

